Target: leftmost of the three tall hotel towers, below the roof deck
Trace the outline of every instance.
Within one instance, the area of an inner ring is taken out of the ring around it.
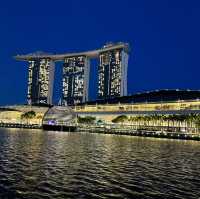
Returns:
[[[52,104],[54,62],[48,58],[29,60],[28,104]]]

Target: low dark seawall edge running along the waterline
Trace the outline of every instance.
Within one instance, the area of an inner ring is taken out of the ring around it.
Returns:
[[[31,124],[0,124],[3,128],[27,128],[27,129],[43,129],[47,131],[65,131],[65,132],[89,132],[101,134],[115,134],[115,135],[128,135],[128,136],[141,136],[141,137],[154,137],[154,138],[168,138],[168,139],[181,139],[181,140],[196,140],[200,141],[199,133],[186,133],[186,132],[169,132],[169,131],[156,131],[144,129],[112,129],[106,126],[55,126],[55,125],[31,125]]]

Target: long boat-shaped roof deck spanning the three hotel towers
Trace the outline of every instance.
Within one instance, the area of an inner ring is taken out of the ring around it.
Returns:
[[[74,57],[74,56],[86,56],[89,58],[95,58],[98,57],[99,54],[109,51],[109,50],[115,50],[123,48],[126,52],[129,51],[129,44],[128,43],[116,43],[116,44],[108,44],[103,46],[103,48],[96,49],[96,50],[90,50],[90,51],[84,51],[84,52],[77,52],[77,53],[63,53],[63,54],[49,54],[44,52],[36,52],[31,53],[27,55],[17,55],[15,56],[15,59],[22,60],[22,61],[29,61],[34,59],[41,59],[41,58],[47,58],[51,59],[53,61],[62,61],[67,57]]]

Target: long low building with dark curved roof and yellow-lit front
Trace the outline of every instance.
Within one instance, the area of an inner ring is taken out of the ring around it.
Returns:
[[[119,115],[200,114],[200,91],[156,90],[77,104],[71,107],[79,116],[111,121]]]

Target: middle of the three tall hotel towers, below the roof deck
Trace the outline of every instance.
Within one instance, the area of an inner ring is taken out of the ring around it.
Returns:
[[[88,100],[89,70],[90,62],[84,55],[64,59],[62,105]]]

